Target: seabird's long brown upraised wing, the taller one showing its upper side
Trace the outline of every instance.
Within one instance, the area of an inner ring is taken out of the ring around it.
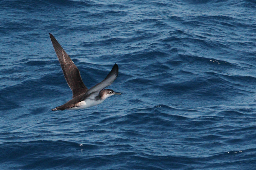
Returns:
[[[53,48],[58,56],[60,66],[63,70],[64,77],[73,92],[73,98],[87,92],[88,88],[84,85],[80,72],[76,65],[73,63],[68,54],[60,46],[59,42],[53,37],[51,33],[50,38]]]

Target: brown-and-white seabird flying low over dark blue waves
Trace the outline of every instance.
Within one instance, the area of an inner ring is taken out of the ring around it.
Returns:
[[[114,92],[111,89],[104,89],[116,80],[118,75],[117,64],[113,66],[112,70],[108,73],[108,76],[104,80],[88,90],[88,88],[84,85],[80,72],[74,62],[60,46],[59,42],[53,37],[53,35],[51,33],[49,34],[53,48],[57,54],[60,66],[63,70],[64,77],[68,83],[68,86],[73,92],[73,99],[69,100],[67,103],[61,106],[53,108],[52,111],[65,109],[84,109],[98,105],[114,94],[121,94],[119,92]]]

